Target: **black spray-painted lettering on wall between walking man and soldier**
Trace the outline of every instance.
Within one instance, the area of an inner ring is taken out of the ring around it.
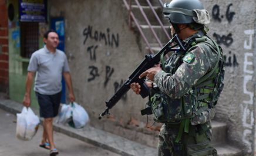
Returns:
[[[103,31],[93,29],[93,26],[88,25],[85,29],[83,29],[82,35],[84,37],[83,45],[86,46],[86,52],[89,55],[90,61],[93,63],[97,63],[97,54],[99,53],[98,50],[100,46],[108,46],[110,48],[119,47],[119,33],[112,33],[111,29],[109,28],[106,28],[106,30]],[[88,40],[95,42],[95,44],[86,45]],[[106,87],[109,84],[110,79],[114,73],[114,67],[110,65],[106,65],[104,69],[99,69],[99,66],[97,66],[97,64],[90,65],[88,69],[89,78],[87,79],[87,82],[99,80],[98,78],[102,76],[105,78],[105,81],[103,82],[103,87]],[[103,71],[103,73],[101,73],[100,71]],[[120,83],[114,82],[114,92],[116,92],[117,89],[122,86],[122,84],[123,80],[121,80]],[[123,96],[122,99],[126,100],[126,94]]]

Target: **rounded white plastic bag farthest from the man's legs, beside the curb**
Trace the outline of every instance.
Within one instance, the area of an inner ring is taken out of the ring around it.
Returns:
[[[89,116],[86,110],[78,103],[70,104],[72,106],[72,120],[69,121],[69,126],[74,128],[83,128],[89,121]]]

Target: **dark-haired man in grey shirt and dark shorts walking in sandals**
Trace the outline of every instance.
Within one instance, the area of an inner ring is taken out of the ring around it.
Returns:
[[[26,92],[23,105],[31,105],[31,86],[35,76],[36,97],[43,117],[43,135],[40,147],[50,150],[50,156],[59,154],[53,142],[53,117],[58,115],[62,90],[62,75],[69,90],[69,100],[75,101],[68,60],[64,52],[56,49],[59,36],[54,30],[48,30],[43,36],[45,46],[31,56],[26,78]]]

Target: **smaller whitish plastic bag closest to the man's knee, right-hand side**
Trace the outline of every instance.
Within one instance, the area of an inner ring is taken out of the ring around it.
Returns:
[[[68,122],[71,116],[72,116],[72,107],[70,106],[70,104],[62,104],[58,117],[55,120],[55,123],[65,124]]]

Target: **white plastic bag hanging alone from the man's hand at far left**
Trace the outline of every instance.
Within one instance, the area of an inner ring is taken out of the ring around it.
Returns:
[[[31,140],[38,131],[39,123],[39,118],[32,109],[23,107],[21,113],[17,113],[16,137]]]

